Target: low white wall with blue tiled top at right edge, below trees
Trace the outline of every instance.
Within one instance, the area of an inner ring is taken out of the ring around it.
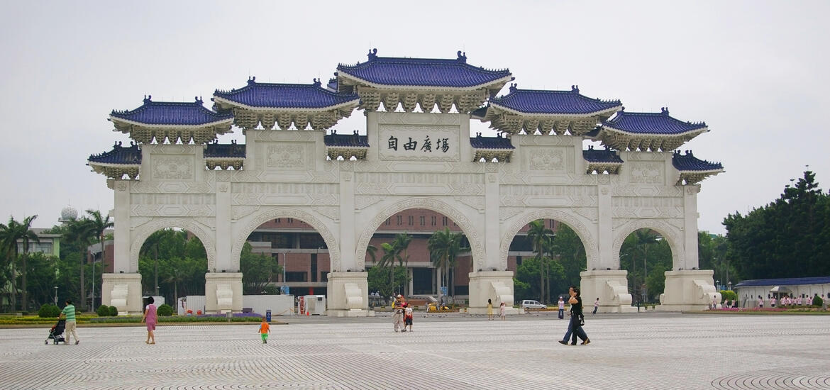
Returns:
[[[759,299],[764,300],[764,307],[769,307],[770,298],[779,300],[784,295],[808,297],[818,294],[823,300],[828,300],[830,276],[744,280],[735,285],[735,294],[743,307],[758,307]]]

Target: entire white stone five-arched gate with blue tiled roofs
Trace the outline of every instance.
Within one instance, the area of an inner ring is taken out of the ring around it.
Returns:
[[[626,111],[619,100],[570,90],[525,90],[509,70],[472,66],[466,54],[422,59],[378,56],[339,65],[323,85],[246,85],[216,90],[212,108],[153,101],[113,110],[129,134],[88,165],[115,192],[114,273],[103,276],[102,303],[140,312],[139,250],[159,229],[180,227],[207,251],[207,312],[242,310],[239,258],[262,223],[296,218],[328,247],[330,315],[369,314],[364,259],[388,217],[408,209],[440,212],[470,242],[469,305],[512,306],[510,241],[527,223],[549,218],[571,227],[585,246],[584,296],[601,310],[631,310],[623,241],[637,229],[671,246],[663,310],[702,309],[719,298],[712,271],[698,270],[696,197],[720,163],[676,151],[709,131],[668,109]],[[354,110],[366,134],[332,127]],[[470,121],[498,136],[471,137]],[[218,144],[242,129],[245,144]],[[326,130],[329,130],[328,132]],[[603,149],[583,149],[592,139]]]

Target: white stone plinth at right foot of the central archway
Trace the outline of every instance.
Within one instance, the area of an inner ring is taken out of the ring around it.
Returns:
[[[499,314],[499,305],[507,306],[505,314],[519,314],[513,309],[513,271],[470,272],[469,314],[487,314],[487,300],[493,303],[493,315]]]

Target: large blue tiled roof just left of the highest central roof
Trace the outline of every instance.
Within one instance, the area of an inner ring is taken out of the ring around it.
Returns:
[[[213,95],[241,105],[272,109],[323,109],[360,100],[358,95],[327,90],[316,79],[314,84],[270,84],[257,83],[252,77],[238,90],[216,90]]]

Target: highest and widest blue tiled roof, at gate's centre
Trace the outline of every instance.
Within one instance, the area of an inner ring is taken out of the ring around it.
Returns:
[[[466,63],[458,51],[457,59],[378,57],[369,51],[369,61],[337,66],[337,71],[379,85],[411,85],[467,88],[489,85],[510,77],[507,69],[491,71]],[[506,81],[505,81],[506,82]]]

